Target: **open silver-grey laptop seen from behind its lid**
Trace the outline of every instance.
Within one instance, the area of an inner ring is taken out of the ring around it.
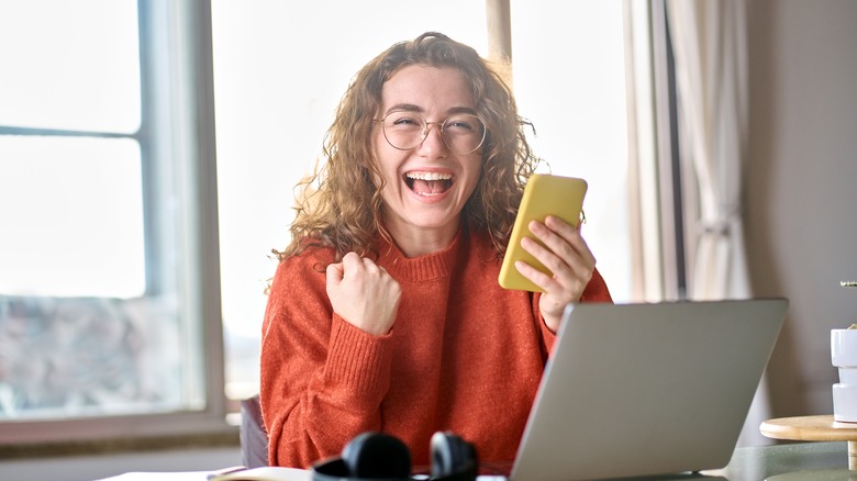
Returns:
[[[787,307],[784,299],[569,305],[510,480],[725,467]]]

